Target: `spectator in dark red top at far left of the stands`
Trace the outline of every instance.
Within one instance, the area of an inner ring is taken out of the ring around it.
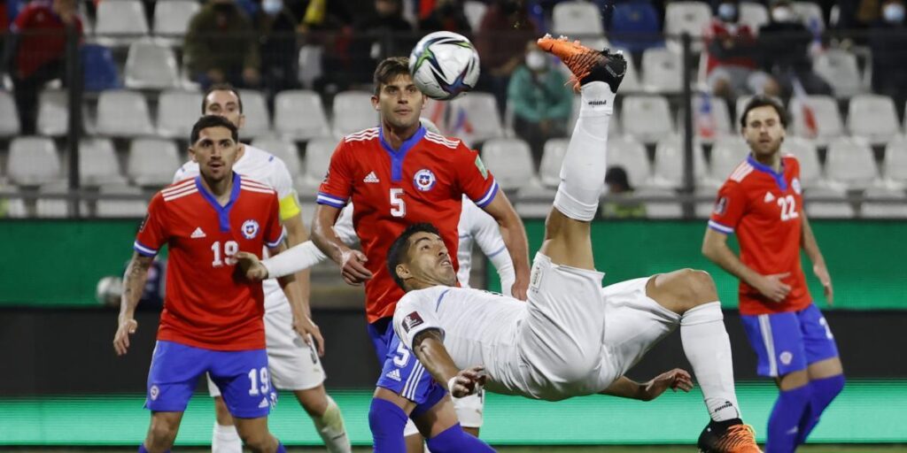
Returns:
[[[38,92],[47,82],[63,79],[66,67],[66,33],[82,35],[82,19],[75,0],[33,1],[10,26],[0,74],[13,80],[15,106],[24,135],[34,134]],[[63,81],[65,82],[65,81]]]

